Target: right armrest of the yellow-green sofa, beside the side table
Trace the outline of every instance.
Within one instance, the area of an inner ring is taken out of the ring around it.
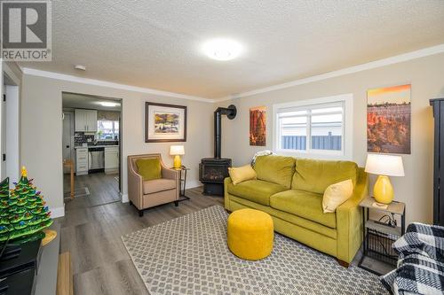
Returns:
[[[337,207],[337,259],[350,263],[362,243],[362,199],[369,195],[369,177],[359,168],[352,198]]]

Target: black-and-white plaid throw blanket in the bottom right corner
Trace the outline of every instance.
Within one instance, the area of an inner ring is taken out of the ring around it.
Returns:
[[[444,227],[411,223],[406,234],[392,245],[398,268],[381,282],[393,294],[444,293]]]

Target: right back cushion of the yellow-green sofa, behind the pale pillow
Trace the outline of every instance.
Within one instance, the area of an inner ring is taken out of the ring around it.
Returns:
[[[356,185],[358,166],[351,161],[296,159],[291,189],[323,194],[330,184],[351,179]]]

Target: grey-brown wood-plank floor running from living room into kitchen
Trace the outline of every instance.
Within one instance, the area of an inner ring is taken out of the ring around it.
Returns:
[[[118,188],[118,182],[112,182],[114,176],[105,180],[85,176],[89,177],[80,176],[82,182],[75,186],[86,185],[91,195],[67,200],[65,217],[56,220],[61,227],[60,252],[71,252],[75,294],[148,294],[121,237],[202,208],[223,206],[223,198],[203,196],[202,188],[196,188],[186,191],[191,199],[178,207],[157,206],[139,217],[134,206],[115,202],[120,199],[118,190],[109,187]]]

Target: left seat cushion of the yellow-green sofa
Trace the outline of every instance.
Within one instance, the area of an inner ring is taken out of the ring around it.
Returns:
[[[270,206],[270,196],[287,188],[260,180],[250,180],[236,185],[228,184],[228,193],[236,197],[245,198],[261,205]]]

